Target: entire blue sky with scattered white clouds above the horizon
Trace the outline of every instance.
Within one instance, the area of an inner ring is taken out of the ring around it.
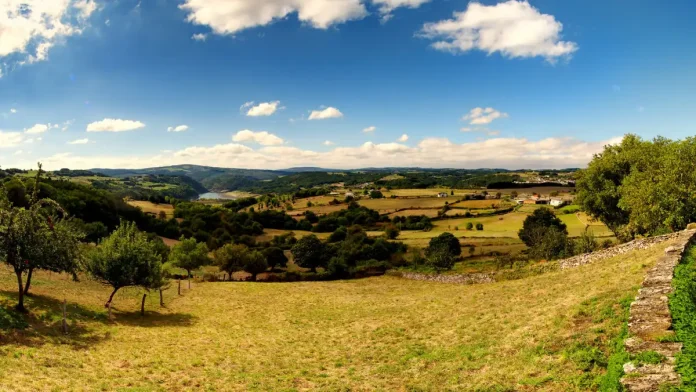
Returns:
[[[0,165],[582,166],[625,133],[693,133],[695,11],[6,0]]]

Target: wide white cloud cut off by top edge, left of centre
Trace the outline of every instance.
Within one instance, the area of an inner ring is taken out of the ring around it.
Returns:
[[[215,34],[235,34],[297,13],[300,21],[326,29],[367,15],[361,0],[185,0],[186,20],[209,26]]]

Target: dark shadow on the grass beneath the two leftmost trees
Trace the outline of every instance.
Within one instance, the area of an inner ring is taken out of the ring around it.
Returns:
[[[66,344],[76,350],[108,340],[110,332],[90,328],[90,324],[168,327],[192,326],[196,318],[183,313],[120,312],[113,308],[113,320],[108,319],[106,310],[94,310],[75,303],[67,305],[68,333],[62,330],[63,302],[53,297],[33,294],[25,297],[27,313],[17,312],[17,293],[0,290],[0,347],[7,344],[39,347],[46,343]]]

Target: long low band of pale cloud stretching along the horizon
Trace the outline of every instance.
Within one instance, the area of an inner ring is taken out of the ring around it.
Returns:
[[[21,135],[20,135],[21,137]],[[0,139],[1,140],[1,139]],[[419,167],[505,167],[565,168],[582,167],[604,145],[621,138],[587,142],[575,138],[491,138],[470,143],[454,143],[446,138],[426,138],[415,147],[401,143],[364,143],[356,147],[336,147],[316,152],[288,146],[265,146],[259,149],[238,144],[192,146],[156,155],[78,156],[56,154],[40,157],[47,170],[70,167],[142,168],[174,164],[198,164],[219,167],[283,169],[293,166],[324,166],[345,169],[386,166]],[[472,154],[476,151],[476,154]],[[35,165],[35,159],[3,163],[21,168]]]

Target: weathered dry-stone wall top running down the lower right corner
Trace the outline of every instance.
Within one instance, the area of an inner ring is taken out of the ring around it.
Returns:
[[[665,249],[665,255],[648,271],[638,296],[631,304],[628,322],[630,337],[624,342],[626,351],[631,355],[654,351],[663,355],[664,360],[660,364],[625,364],[626,376],[621,383],[628,391],[659,391],[661,385],[680,382],[674,362],[682,344],[665,341],[674,334],[667,296],[674,290],[674,268],[695,236],[696,230],[676,233],[676,243]]]

